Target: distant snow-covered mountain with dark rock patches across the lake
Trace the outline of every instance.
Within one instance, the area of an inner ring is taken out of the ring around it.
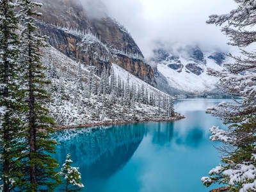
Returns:
[[[224,52],[203,52],[198,46],[154,49],[150,63],[155,65],[157,88],[168,93],[214,92],[218,78],[207,75],[207,68],[222,70],[228,62]]]

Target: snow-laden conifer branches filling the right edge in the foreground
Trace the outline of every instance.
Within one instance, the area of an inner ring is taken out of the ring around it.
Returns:
[[[224,25],[223,33],[230,38],[228,44],[247,47],[256,41],[256,2],[236,0],[238,7],[230,13],[211,15],[207,24]],[[209,69],[209,74],[220,77],[218,87],[226,93],[243,98],[234,103],[221,102],[207,113],[218,116],[227,130],[212,127],[212,141],[223,142],[221,164],[203,177],[205,186],[214,182],[229,184],[233,191],[256,191],[256,52],[240,49],[243,56],[232,56],[235,63],[225,70]]]

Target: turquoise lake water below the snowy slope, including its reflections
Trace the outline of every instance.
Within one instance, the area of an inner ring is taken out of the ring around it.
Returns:
[[[68,152],[79,166],[87,192],[200,192],[200,181],[220,163],[209,141],[219,120],[205,114],[220,99],[175,101],[175,111],[186,118],[177,122],[145,122],[56,133],[56,159],[63,164]]]

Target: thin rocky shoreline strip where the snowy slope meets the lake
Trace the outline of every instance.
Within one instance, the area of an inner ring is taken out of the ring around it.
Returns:
[[[128,120],[128,121],[109,121],[109,122],[95,122],[92,124],[81,124],[81,125],[57,125],[54,127],[55,131],[65,130],[65,129],[77,129],[77,128],[89,128],[89,127],[98,127],[102,125],[118,125],[118,124],[134,124],[141,122],[174,122],[177,120],[182,120],[182,118],[186,118],[184,115],[180,115],[175,113],[175,116],[169,118],[150,118],[150,119],[136,119],[136,120]]]

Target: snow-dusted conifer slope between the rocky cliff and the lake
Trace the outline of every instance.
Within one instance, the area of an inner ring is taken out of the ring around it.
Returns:
[[[97,68],[72,61],[52,47],[44,50],[45,76],[51,81],[47,105],[56,127],[77,127],[145,120],[175,120],[173,97],[113,64]],[[64,58],[63,58],[64,57]]]

